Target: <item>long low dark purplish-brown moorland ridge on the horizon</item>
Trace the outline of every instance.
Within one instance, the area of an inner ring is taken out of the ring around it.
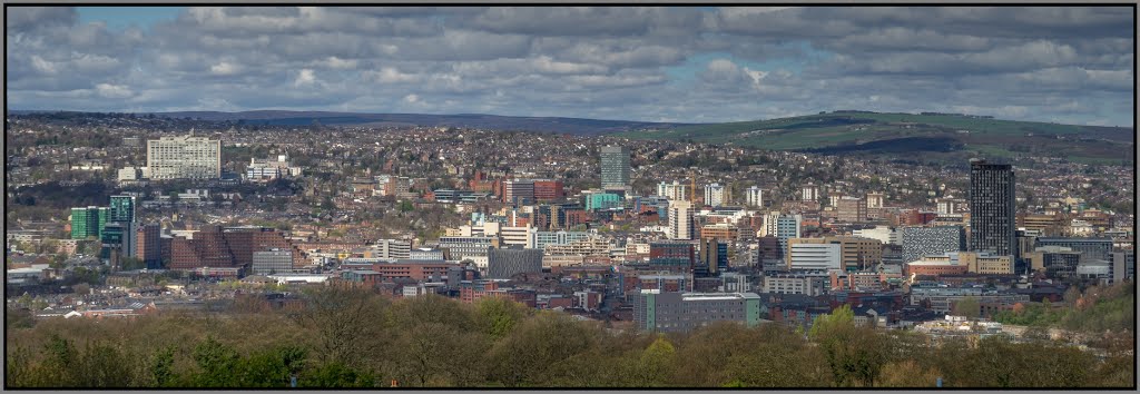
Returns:
[[[602,121],[577,117],[524,117],[481,114],[424,115],[424,114],[363,114],[337,112],[250,110],[155,113],[156,116],[192,117],[203,121],[245,121],[250,124],[326,126],[417,125],[486,128],[597,136],[634,130],[673,129],[694,123],[653,123],[630,121]]]

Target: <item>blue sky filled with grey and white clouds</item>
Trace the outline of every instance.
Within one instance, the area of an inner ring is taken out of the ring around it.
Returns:
[[[7,7],[9,109],[1133,123],[1131,7]]]

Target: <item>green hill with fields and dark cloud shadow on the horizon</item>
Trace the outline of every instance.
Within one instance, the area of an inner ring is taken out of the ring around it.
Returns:
[[[767,121],[630,131],[614,137],[856,156],[897,157],[902,153],[913,153],[933,159],[1033,155],[1099,164],[1135,161],[1132,128],[1004,121],[963,114],[838,110]]]

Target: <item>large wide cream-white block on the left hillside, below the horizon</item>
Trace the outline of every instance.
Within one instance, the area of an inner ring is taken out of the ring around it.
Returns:
[[[193,134],[148,140],[150,179],[221,178],[221,140]]]

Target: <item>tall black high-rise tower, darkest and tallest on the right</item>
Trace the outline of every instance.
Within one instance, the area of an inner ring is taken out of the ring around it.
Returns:
[[[970,251],[1017,255],[1013,166],[970,161]]]

